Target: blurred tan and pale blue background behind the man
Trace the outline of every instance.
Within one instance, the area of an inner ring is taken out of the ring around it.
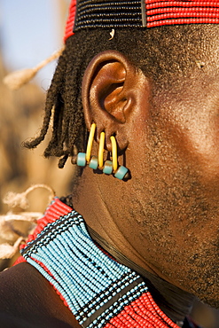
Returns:
[[[7,191],[22,192],[31,184],[48,184],[58,196],[71,192],[73,166],[58,168],[57,159],[45,160],[43,142],[34,151],[21,147],[42,124],[43,104],[56,62],[44,67],[20,90],[9,90],[6,74],[36,66],[61,48],[70,0],[0,0],[0,214],[8,207],[1,199]],[[31,211],[43,212],[48,191],[33,191]],[[0,238],[0,242],[1,238]],[[13,261],[13,260],[12,260]],[[0,262],[0,269],[10,265]],[[219,328],[218,311],[197,302],[193,319],[204,328]]]

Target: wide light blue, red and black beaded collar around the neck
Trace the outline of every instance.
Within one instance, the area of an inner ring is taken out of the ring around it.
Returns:
[[[21,254],[16,263],[33,265],[82,327],[179,328],[153,301],[144,279],[100,249],[82,216],[58,198]]]

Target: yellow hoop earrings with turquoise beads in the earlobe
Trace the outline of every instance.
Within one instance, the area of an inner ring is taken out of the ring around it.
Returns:
[[[122,165],[118,167],[117,144],[115,141],[115,137],[110,137],[112,143],[112,160],[106,160],[104,162],[105,132],[100,133],[98,157],[91,157],[91,149],[94,140],[95,130],[96,124],[92,123],[90,128],[90,135],[88,138],[87,150],[86,152],[78,152],[76,164],[79,167],[85,167],[88,164],[90,168],[101,169],[106,175],[113,174],[113,176],[117,177],[117,179],[122,180],[128,175],[129,170],[128,168],[125,168]]]

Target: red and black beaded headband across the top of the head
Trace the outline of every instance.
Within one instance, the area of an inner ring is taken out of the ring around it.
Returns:
[[[90,28],[218,24],[217,0],[72,0],[64,40]]]

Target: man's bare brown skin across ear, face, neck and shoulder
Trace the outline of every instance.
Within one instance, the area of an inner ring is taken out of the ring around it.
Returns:
[[[180,97],[168,90],[156,101],[153,82],[120,53],[106,51],[92,60],[82,83],[87,127],[92,121],[97,124],[92,152],[98,152],[103,130],[110,152],[114,134],[120,164],[125,159],[131,179],[125,183],[85,168],[73,201],[86,223],[121,254],[215,308],[219,308],[217,43],[209,44],[211,56],[203,70],[197,66],[191,79],[177,81]],[[28,327],[29,322],[80,327],[52,286],[27,263],[6,270],[0,278],[1,313],[11,320],[13,316],[26,320]],[[20,295],[19,301],[15,295]]]

